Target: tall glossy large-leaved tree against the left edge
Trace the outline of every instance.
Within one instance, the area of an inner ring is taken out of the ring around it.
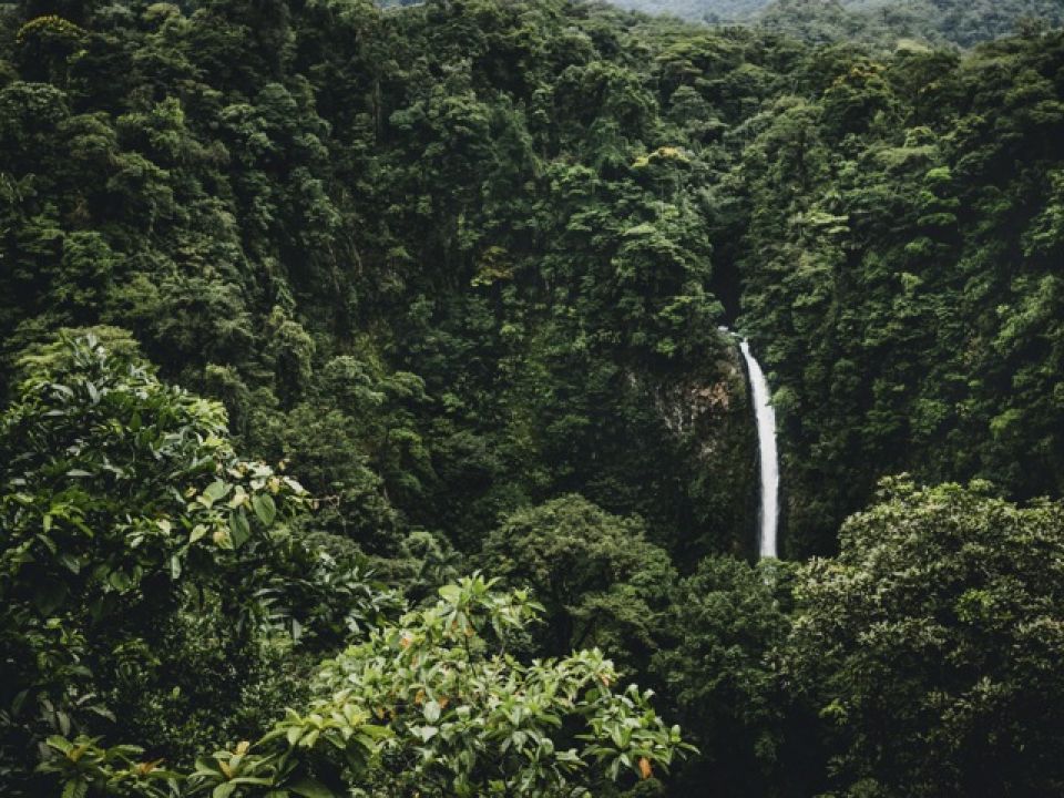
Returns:
[[[268,665],[254,594],[263,571],[308,559],[288,528],[305,491],[239,459],[216,402],[93,338],[23,368],[0,417],[4,761],[85,724],[121,718],[165,748],[203,734],[182,724],[204,702],[238,717],[219,679]]]

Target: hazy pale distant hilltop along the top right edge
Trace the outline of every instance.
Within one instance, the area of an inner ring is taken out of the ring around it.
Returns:
[[[918,39],[970,47],[1064,22],[1060,0],[621,0],[618,4],[710,23],[755,22],[815,42]]]

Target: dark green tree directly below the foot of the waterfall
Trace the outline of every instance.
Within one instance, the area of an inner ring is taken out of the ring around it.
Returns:
[[[800,713],[787,706],[773,663],[790,626],[788,594],[781,563],[730,557],[703,560],[675,586],[652,671],[703,751],[678,795],[809,795],[802,779],[815,768],[788,761],[785,749],[787,723]]]

